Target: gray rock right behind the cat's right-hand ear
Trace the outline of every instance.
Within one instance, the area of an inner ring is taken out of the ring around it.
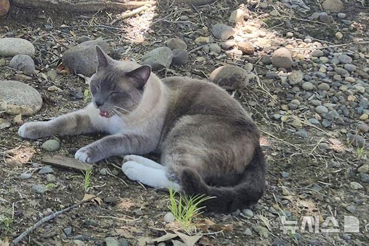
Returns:
[[[141,58],[141,65],[149,65],[152,69],[169,68],[173,60],[173,52],[168,47],[156,48]]]

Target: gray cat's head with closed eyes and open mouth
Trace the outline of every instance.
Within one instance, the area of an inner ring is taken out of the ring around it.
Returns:
[[[97,71],[90,79],[92,103],[100,110],[101,116],[115,114],[124,117],[140,103],[151,67],[114,60],[98,46],[96,52]]]

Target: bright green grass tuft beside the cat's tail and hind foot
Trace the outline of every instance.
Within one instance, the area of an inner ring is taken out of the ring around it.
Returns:
[[[176,198],[176,195],[179,195]],[[205,196],[205,195],[195,195],[188,196],[186,194],[178,193],[169,187],[169,204],[168,208],[174,215],[180,226],[188,229],[191,227],[191,223],[194,218],[203,213],[201,211],[206,206],[198,207],[201,202],[212,199],[215,197]]]

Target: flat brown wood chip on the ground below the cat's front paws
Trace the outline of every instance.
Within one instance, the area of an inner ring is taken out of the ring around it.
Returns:
[[[62,155],[45,156],[44,158],[42,158],[41,161],[44,163],[47,163],[48,165],[52,165],[52,166],[60,167],[60,168],[72,168],[72,169],[78,169],[82,171],[86,171],[87,169],[92,169],[92,165],[88,163],[83,163],[74,158],[70,158],[70,157],[62,156]]]

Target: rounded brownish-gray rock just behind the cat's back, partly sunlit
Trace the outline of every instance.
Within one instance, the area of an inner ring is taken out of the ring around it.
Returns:
[[[244,89],[249,85],[248,73],[240,67],[227,65],[215,69],[209,79],[226,90]]]

